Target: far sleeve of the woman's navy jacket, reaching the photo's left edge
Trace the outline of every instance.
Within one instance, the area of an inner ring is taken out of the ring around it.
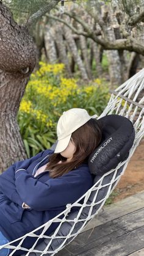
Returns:
[[[32,161],[35,161],[37,158],[40,158],[43,155],[43,152],[38,153],[32,158],[18,161],[12,166],[10,166],[7,170],[2,172],[0,175],[0,192],[7,196],[12,202],[18,203],[18,205],[23,204],[23,200],[21,199],[20,194],[16,191],[15,186],[15,172],[16,170],[26,169]]]

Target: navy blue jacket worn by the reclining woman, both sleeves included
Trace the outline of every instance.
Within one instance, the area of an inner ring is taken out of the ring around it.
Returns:
[[[79,199],[93,185],[87,164],[58,178],[50,178],[49,172],[34,177],[37,169],[48,163],[52,153],[52,150],[45,150],[18,161],[0,175],[0,230],[9,241],[54,218],[65,210],[67,203]],[[22,208],[23,202],[31,208]],[[46,235],[57,225],[54,222]]]

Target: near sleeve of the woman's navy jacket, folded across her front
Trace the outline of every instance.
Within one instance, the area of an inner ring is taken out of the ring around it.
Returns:
[[[17,172],[16,189],[21,199],[33,210],[46,211],[79,199],[93,184],[92,176],[83,169],[72,170],[59,178],[41,183],[24,170]]]

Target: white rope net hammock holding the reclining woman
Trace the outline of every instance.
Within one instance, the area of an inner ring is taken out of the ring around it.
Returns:
[[[65,211],[32,232],[16,239],[15,242],[18,242],[18,246],[13,246],[13,241],[0,246],[0,249],[4,247],[12,249],[12,252],[9,254],[10,256],[20,249],[23,250],[23,255],[26,256],[55,255],[65,247],[65,245],[70,243],[70,241],[82,231],[88,221],[98,213],[117,185],[121,175],[124,174],[124,170],[126,169],[135,148],[137,148],[140,140],[144,136],[144,68],[128,81],[124,82],[120,87],[115,89],[115,91],[111,92],[112,95],[109,103],[98,119],[109,114],[119,114],[131,120],[135,128],[135,141],[129,152],[128,159],[119,163],[115,169],[104,174],[103,177],[96,181],[92,188],[88,189],[84,196],[73,204],[68,204]],[[106,183],[108,175],[109,183]],[[107,188],[106,193],[101,199],[96,200],[103,188]],[[82,199],[84,199],[84,202],[80,203]],[[76,213],[70,213],[72,207],[79,207],[79,210],[77,210]],[[51,236],[45,235],[46,230],[48,230],[53,222],[59,222],[59,226]],[[65,227],[68,227],[67,235],[63,235],[63,232],[61,232]],[[38,230],[40,230],[40,235],[35,234]],[[23,241],[28,236],[36,238],[31,249],[26,249],[22,246]],[[45,240],[43,241],[41,238],[45,238]],[[41,244],[37,245],[40,240]]]

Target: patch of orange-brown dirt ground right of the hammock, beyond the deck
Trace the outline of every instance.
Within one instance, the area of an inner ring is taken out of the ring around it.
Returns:
[[[124,199],[144,190],[144,138],[134,152],[129,164],[119,181],[113,202]]]

